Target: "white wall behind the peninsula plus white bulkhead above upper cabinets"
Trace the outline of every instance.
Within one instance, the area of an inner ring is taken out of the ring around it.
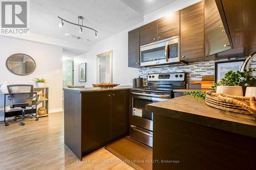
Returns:
[[[131,85],[132,79],[138,77],[139,71],[137,68],[128,67],[128,32],[142,26],[145,23],[154,21],[165,15],[171,14],[177,10],[183,9],[189,5],[195,4],[200,0],[177,0],[165,7],[162,7],[152,13],[144,16],[144,22],[130,29],[124,30],[116,35],[113,35],[105,40],[99,41],[89,48],[89,52],[74,58],[74,84],[86,85],[91,87],[97,82],[96,78],[96,56],[104,52],[113,50],[113,83],[121,85]],[[78,65],[87,63],[87,82],[81,83],[78,81]]]

